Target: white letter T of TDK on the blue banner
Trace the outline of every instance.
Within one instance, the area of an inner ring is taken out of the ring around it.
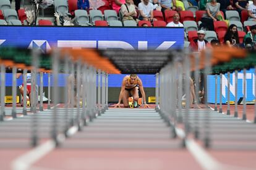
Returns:
[[[71,47],[74,49],[81,49],[81,48],[95,48],[96,41],[72,41],[72,40],[58,40],[58,47],[59,48],[67,48]]]

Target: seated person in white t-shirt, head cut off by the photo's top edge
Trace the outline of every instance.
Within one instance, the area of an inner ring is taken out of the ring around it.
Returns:
[[[143,0],[139,3],[139,20],[153,22],[156,18],[153,17],[153,4],[149,0]]]

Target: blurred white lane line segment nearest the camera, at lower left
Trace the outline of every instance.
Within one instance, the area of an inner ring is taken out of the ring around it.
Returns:
[[[54,150],[55,142],[53,140],[48,140],[45,144],[41,144],[33,150],[25,153],[19,158],[15,159],[12,164],[12,170],[26,170],[32,166],[33,163],[40,160],[43,156]]]

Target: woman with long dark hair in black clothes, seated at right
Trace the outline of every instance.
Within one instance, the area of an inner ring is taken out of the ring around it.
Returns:
[[[231,24],[226,31],[226,34],[224,36],[224,43],[227,44],[229,47],[232,46],[239,46],[239,36],[237,32],[237,26],[234,24]]]

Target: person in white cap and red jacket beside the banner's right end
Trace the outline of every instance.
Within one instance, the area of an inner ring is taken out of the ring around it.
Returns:
[[[203,51],[206,47],[211,47],[211,44],[205,39],[205,31],[197,31],[198,38],[190,41],[189,47],[194,52]]]

